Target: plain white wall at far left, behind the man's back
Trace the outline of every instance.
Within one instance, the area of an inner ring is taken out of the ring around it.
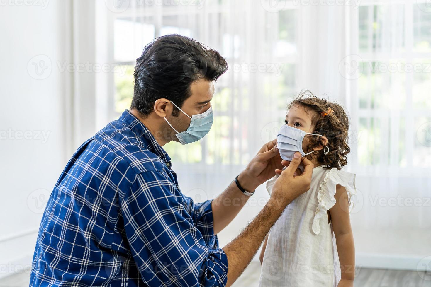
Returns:
[[[0,277],[31,263],[42,206],[71,155],[69,74],[56,65],[70,51],[69,1],[9,2],[0,6]],[[48,68],[37,75],[40,60]]]

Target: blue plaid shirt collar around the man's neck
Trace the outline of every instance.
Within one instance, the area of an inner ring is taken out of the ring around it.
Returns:
[[[138,120],[131,112],[126,109],[118,119],[120,122],[124,123],[125,126],[133,130],[137,136],[141,138],[145,147],[156,154],[169,169],[171,168],[171,158],[168,153],[159,145],[154,136],[151,134],[150,130],[145,127],[144,123]]]

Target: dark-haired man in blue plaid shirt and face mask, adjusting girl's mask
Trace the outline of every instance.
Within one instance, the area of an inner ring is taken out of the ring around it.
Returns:
[[[41,222],[30,286],[231,286],[284,207],[309,189],[312,165],[294,176],[275,141],[213,201],[185,197],[162,146],[187,144],[212,124],[220,54],[179,35],[137,59],[131,110],[87,140],[60,176]],[[281,174],[262,211],[231,243],[217,233],[257,186]]]

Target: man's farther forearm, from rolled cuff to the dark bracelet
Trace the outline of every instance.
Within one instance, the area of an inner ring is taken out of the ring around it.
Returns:
[[[244,173],[238,176],[238,182],[247,191],[254,191],[256,183],[253,183]],[[223,230],[237,216],[240,210],[244,207],[250,196],[245,195],[240,191],[235,182],[222,192],[212,203],[212,217],[214,234]]]

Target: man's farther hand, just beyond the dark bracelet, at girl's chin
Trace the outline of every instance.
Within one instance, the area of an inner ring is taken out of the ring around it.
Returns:
[[[275,170],[283,168],[277,139],[267,142],[240,174],[238,181],[247,191],[255,190],[259,185],[275,176]]]

